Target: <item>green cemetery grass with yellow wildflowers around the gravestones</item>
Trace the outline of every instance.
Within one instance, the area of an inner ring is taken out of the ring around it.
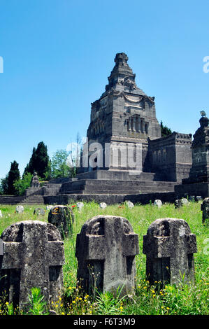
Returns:
[[[73,204],[69,205],[70,207]],[[3,217],[0,218],[0,232],[3,232],[9,225],[18,221],[38,220],[48,221],[48,211],[45,216],[34,215],[34,209],[44,205],[25,206],[24,213],[15,214],[15,206],[1,206]],[[99,204],[94,202],[84,203],[82,210],[73,207],[75,222],[71,236],[64,239],[65,265],[64,271],[64,297],[52,301],[51,309],[55,309],[57,314],[113,314],[113,315],[193,315],[208,314],[208,253],[209,253],[209,229],[202,224],[201,202],[190,202],[188,205],[175,209],[173,204],[164,204],[161,208],[152,204],[137,204],[133,209],[126,205],[115,204],[99,208]],[[139,255],[136,255],[136,295],[121,298],[118,293],[113,297],[110,293],[89,296],[82,293],[77,285],[77,259],[75,258],[75,241],[77,233],[80,233],[83,223],[87,219],[96,215],[122,216],[129,220],[138,234]],[[184,283],[184,277],[178,287],[167,285],[163,289],[159,288],[159,283],[150,286],[145,279],[146,256],[142,253],[143,235],[146,235],[147,228],[157,218],[182,218],[196,235],[198,253],[194,254],[195,283],[189,285]],[[33,292],[34,305],[31,307],[31,314],[43,314],[43,302],[38,291]],[[1,300],[0,314],[18,314],[18,310],[12,305],[3,303]]]

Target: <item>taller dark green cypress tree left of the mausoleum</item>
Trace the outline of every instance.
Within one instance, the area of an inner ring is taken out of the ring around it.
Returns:
[[[50,178],[50,158],[47,146],[41,141],[37,148],[33,148],[29,163],[24,169],[24,174],[37,172],[41,179]],[[24,175],[23,174],[23,175]]]

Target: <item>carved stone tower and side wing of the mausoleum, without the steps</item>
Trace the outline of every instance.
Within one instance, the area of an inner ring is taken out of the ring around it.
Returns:
[[[161,137],[154,97],[148,97],[137,87],[135,74],[127,61],[123,52],[116,55],[106,91],[92,103],[84,147],[88,165],[79,174],[96,169],[134,169],[161,174],[164,181],[181,181],[189,176],[192,165],[192,135],[173,133]],[[92,145],[96,144],[101,145],[101,150],[92,159]],[[139,153],[140,158],[137,158]],[[133,163],[130,163],[131,158]],[[106,176],[108,179],[108,174]]]

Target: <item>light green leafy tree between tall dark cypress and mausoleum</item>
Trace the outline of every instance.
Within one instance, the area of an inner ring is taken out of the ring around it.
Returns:
[[[51,161],[51,177],[52,179],[57,179],[59,177],[69,177],[70,167],[67,165],[67,160],[69,157],[69,152],[65,150],[57,150]]]

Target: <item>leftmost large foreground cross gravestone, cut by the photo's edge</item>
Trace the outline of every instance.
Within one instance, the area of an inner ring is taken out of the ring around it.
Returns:
[[[64,264],[64,244],[57,228],[41,221],[22,221],[6,228],[1,239],[0,290],[6,290],[8,302],[27,310],[33,287],[41,289],[48,305],[57,300]]]

